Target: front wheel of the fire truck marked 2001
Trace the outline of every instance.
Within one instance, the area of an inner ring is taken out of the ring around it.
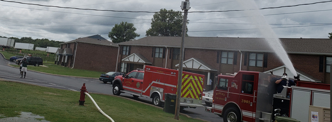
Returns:
[[[234,107],[230,107],[226,109],[224,112],[224,117],[223,117],[225,122],[240,122],[241,117],[240,117],[240,112],[238,109]]]

